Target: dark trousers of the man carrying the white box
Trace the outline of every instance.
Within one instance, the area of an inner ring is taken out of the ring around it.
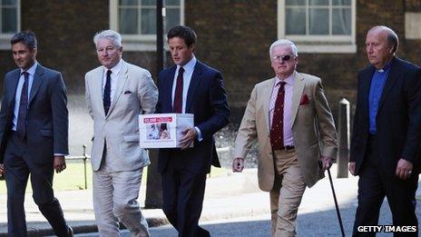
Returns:
[[[176,153],[171,158],[174,159],[162,173],[163,212],[179,236],[210,236],[199,226],[206,173],[191,173],[182,168],[182,158]]]

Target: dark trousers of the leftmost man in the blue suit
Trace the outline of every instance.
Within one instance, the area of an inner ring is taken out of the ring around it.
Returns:
[[[34,164],[27,143],[15,133],[9,137],[5,149],[5,183],[7,186],[8,236],[26,236],[24,191],[31,173],[34,202],[50,222],[57,236],[67,236],[62,207],[53,192],[53,157],[51,163]]]

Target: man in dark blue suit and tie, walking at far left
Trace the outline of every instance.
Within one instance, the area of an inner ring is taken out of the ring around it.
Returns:
[[[57,236],[73,236],[53,192],[54,170],[68,154],[67,97],[62,74],[35,60],[32,32],[12,37],[19,68],[5,74],[0,112],[0,172],[7,186],[8,236],[26,236],[24,191],[31,173],[34,202]]]

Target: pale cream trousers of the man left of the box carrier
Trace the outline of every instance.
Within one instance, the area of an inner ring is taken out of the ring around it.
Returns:
[[[137,199],[142,181],[142,168],[113,171],[104,155],[98,171],[93,172],[93,211],[101,236],[120,236],[119,221],[132,236],[150,236],[148,222]]]

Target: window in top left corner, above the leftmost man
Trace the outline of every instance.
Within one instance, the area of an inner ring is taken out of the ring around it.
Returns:
[[[20,31],[20,0],[0,0],[0,49],[10,49],[10,38]]]

